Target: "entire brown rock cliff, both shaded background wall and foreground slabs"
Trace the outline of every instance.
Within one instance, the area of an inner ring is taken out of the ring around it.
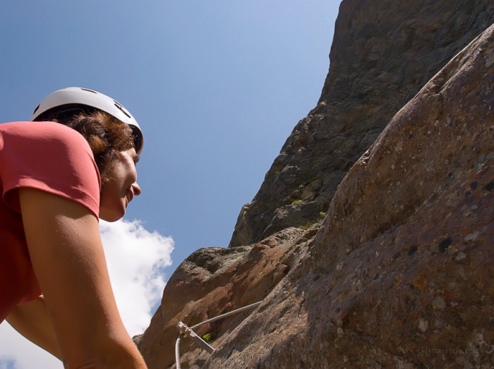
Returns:
[[[174,365],[179,320],[263,299],[198,329],[211,356],[184,340],[182,368],[494,365],[494,26],[476,37],[493,6],[342,2],[317,107],[239,247],[171,276],[140,344],[151,369]]]

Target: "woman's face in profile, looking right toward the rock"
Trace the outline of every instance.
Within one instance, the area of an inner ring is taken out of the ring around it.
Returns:
[[[100,198],[100,218],[116,222],[125,215],[126,207],[134,196],[140,195],[135,164],[138,155],[134,149],[120,152],[121,156],[110,172],[110,180],[102,188]]]

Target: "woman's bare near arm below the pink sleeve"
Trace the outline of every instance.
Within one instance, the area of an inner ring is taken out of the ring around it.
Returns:
[[[66,368],[146,368],[123,327],[98,222],[87,208],[19,189],[32,266]]]

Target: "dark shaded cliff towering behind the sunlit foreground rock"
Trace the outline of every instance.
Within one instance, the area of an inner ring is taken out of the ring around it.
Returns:
[[[494,22],[492,0],[344,0],[317,107],[296,124],[230,247],[320,219],[392,116]]]

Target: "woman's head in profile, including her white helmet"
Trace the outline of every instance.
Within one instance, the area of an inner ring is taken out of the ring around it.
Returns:
[[[83,135],[100,171],[100,218],[114,222],[123,217],[128,202],[140,194],[135,164],[143,134],[130,113],[99,92],[69,87],[43,99],[30,120],[56,121]]]

